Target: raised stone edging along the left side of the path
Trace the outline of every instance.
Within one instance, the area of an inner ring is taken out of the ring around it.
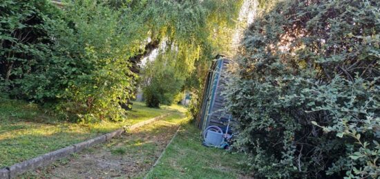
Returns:
[[[84,142],[80,142],[78,144],[70,145],[69,147],[65,147],[62,149],[58,149],[56,151],[52,151],[49,153],[45,153],[44,155],[38,156],[37,158],[32,158],[30,160],[26,160],[17,164],[13,164],[10,167],[5,167],[3,169],[0,169],[0,179],[11,179],[16,178],[21,173],[24,173],[26,171],[30,171],[32,169],[37,169],[37,167],[44,167],[48,164],[51,164],[55,162],[56,160],[60,158],[64,158],[69,156],[72,153],[77,153],[79,151],[82,151],[83,149],[86,149],[88,147],[93,147],[95,144],[101,144],[103,142],[109,141],[112,138],[115,138],[116,136],[122,135],[124,132],[131,131],[133,129],[137,129],[141,126],[144,126],[146,124],[149,124],[151,122],[155,122],[156,120],[160,120],[162,117],[166,117],[169,115],[169,113],[160,115],[158,117],[154,117],[150,120],[145,120],[142,122],[138,122],[137,124],[133,124],[126,129],[117,129],[116,131],[113,131],[111,133],[106,133],[103,135],[100,135],[96,138],[92,138],[90,140],[86,140]]]

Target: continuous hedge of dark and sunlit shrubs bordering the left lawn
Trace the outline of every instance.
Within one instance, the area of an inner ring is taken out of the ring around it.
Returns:
[[[47,0],[1,1],[0,13],[2,92],[51,104],[66,119],[122,119],[120,103],[134,86],[128,59],[140,48],[130,46],[131,17],[99,1],[65,10]]]

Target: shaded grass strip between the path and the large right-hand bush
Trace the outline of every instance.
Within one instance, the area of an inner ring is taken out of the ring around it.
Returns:
[[[147,178],[245,178],[245,158],[202,146],[200,130],[185,123]]]

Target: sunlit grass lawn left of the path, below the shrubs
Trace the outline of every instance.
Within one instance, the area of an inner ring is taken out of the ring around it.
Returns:
[[[184,110],[176,105],[150,109],[140,102],[133,102],[133,110],[129,111],[129,117],[124,122],[76,124],[59,121],[41,111],[36,104],[0,98],[0,168],[120,129],[122,126],[164,113],[175,115],[175,112]]]

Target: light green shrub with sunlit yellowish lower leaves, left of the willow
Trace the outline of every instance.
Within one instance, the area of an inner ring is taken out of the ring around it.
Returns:
[[[132,97],[134,86],[128,59],[135,49],[124,29],[129,19],[120,22],[121,12],[94,1],[68,4],[64,16],[74,27],[57,34],[56,48],[64,58],[59,60],[60,82],[67,86],[58,96],[65,99],[59,110],[86,122],[122,120],[120,104]]]

